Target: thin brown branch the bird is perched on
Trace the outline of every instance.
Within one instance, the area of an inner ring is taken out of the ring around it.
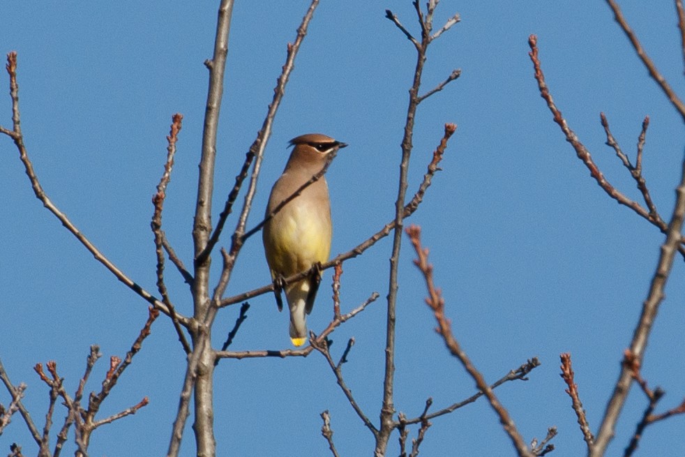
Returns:
[[[446,123],[445,128],[444,128],[444,135],[442,137],[442,140],[440,140],[440,144],[433,151],[432,153],[432,160],[428,164],[428,170],[426,171],[426,174],[423,175],[423,181],[421,181],[421,185],[419,186],[419,190],[416,191],[414,194],[414,197],[412,197],[412,200],[409,201],[405,205],[405,218],[408,218],[411,216],[416,209],[419,208],[419,204],[423,201],[423,196],[426,195],[426,190],[428,190],[428,187],[430,187],[430,183],[432,182],[432,177],[435,175],[436,172],[438,172],[440,169],[439,163],[440,160],[442,160],[442,156],[444,155],[445,149],[447,147],[447,142],[449,138],[453,135],[453,133],[456,131],[457,126],[456,124],[453,123]],[[337,257],[335,257],[333,260],[330,260],[329,262],[326,262],[322,264],[321,269],[329,269],[331,267],[334,267],[336,264],[343,262],[348,259],[352,259],[354,257],[357,257],[358,255],[361,255],[365,250],[373,246],[374,244],[377,243],[380,239],[383,239],[384,237],[387,237],[390,232],[395,228],[396,223],[395,220],[391,220],[389,223],[386,223],[384,227],[373,234],[371,237],[360,243],[359,245],[355,246],[354,248],[348,250],[346,253],[339,254]],[[310,271],[302,271],[301,273],[295,274],[293,276],[290,276],[289,278],[285,278],[286,283],[294,283],[298,280],[301,280],[302,278],[305,278],[310,274]],[[251,299],[253,297],[257,297],[262,294],[266,294],[268,292],[273,292],[273,283],[269,283],[269,285],[265,285],[262,287],[259,287],[254,290],[250,290],[248,292],[243,292],[238,295],[234,295],[233,297],[228,297],[225,299],[221,300],[220,307],[223,306],[230,306],[236,303],[240,303],[242,301],[246,301],[248,299]]]

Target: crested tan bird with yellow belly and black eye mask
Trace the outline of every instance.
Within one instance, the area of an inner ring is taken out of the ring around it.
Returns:
[[[283,174],[273,185],[266,205],[262,241],[279,310],[283,306],[280,289],[285,289],[290,311],[290,340],[293,345],[301,346],[308,340],[306,316],[312,311],[321,280],[318,267],[329,260],[331,253],[333,225],[326,179],[320,177],[278,212],[272,213],[303,184],[322,172],[329,160],[347,144],[320,133],[308,133],[290,140],[289,146],[293,147],[292,153]],[[288,276],[310,269],[313,271],[310,276],[284,283]]]

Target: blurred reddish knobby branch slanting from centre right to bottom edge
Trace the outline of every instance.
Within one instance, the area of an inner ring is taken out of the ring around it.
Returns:
[[[504,406],[499,403],[499,400],[497,400],[492,389],[490,389],[490,386],[488,386],[485,379],[483,379],[483,375],[476,370],[476,367],[472,364],[466,352],[462,350],[460,344],[452,334],[451,323],[444,314],[445,301],[442,298],[440,290],[437,289],[433,283],[432,265],[428,263],[428,249],[421,247],[421,228],[417,225],[412,225],[407,227],[406,232],[416,250],[416,255],[419,257],[417,260],[414,260],[414,264],[421,270],[423,277],[426,279],[426,287],[428,288],[426,304],[428,304],[435,314],[435,320],[437,320],[438,324],[438,328],[436,329],[437,333],[442,336],[449,352],[461,362],[462,366],[467,370],[467,373],[474,379],[476,387],[478,387],[478,389],[485,394],[485,397],[488,398],[492,410],[495,410],[497,413],[502,428],[504,428],[504,431],[509,435],[518,455],[532,456],[531,451],[528,449],[520,433],[518,433],[513,420],[509,416],[509,412],[507,412]]]

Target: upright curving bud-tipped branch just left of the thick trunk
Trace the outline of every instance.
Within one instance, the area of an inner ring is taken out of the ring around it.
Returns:
[[[179,341],[181,342],[181,346],[183,346],[183,351],[185,351],[186,354],[190,354],[190,345],[188,344],[186,335],[183,334],[183,329],[181,329],[181,324],[179,323],[179,316],[176,314],[176,308],[174,308],[174,305],[169,298],[167,285],[164,280],[164,248],[162,236],[162,210],[164,207],[164,200],[167,196],[167,185],[171,180],[172,168],[174,167],[176,142],[179,139],[182,121],[183,116],[180,113],[176,113],[172,117],[171,131],[167,136],[167,161],[164,165],[164,173],[157,185],[157,193],[152,197],[152,204],[154,205],[155,210],[152,215],[150,226],[152,227],[152,233],[155,239],[155,253],[157,255],[157,290],[162,296],[162,301],[164,301],[164,304],[169,309],[170,317],[174,324],[176,335],[179,336]]]

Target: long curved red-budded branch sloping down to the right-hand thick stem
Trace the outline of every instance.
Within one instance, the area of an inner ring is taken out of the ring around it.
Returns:
[[[530,45],[531,49],[528,55],[531,61],[533,62],[533,67],[535,70],[535,79],[538,82],[540,96],[547,103],[547,106],[550,112],[552,113],[554,121],[559,125],[559,128],[562,129],[562,132],[566,137],[566,141],[571,143],[571,146],[573,147],[573,149],[575,149],[575,155],[578,156],[582,163],[585,164],[585,167],[587,167],[587,170],[589,170],[590,176],[592,176],[592,178],[602,188],[602,190],[604,190],[605,193],[607,193],[607,195],[609,195],[612,199],[616,200],[619,204],[622,204],[635,211],[635,213],[637,213],[638,216],[641,216],[642,218],[648,220],[649,223],[652,223],[652,225],[656,226],[659,230],[661,230],[662,233],[665,234],[666,232],[668,232],[668,225],[663,222],[661,217],[657,217],[658,215],[652,215],[650,211],[640,206],[638,202],[634,202],[633,200],[626,197],[626,195],[619,192],[619,190],[617,190],[606,180],[604,174],[599,170],[599,167],[597,167],[597,165],[594,163],[594,160],[592,160],[592,156],[590,155],[589,151],[587,150],[585,145],[580,142],[580,140],[578,139],[578,135],[575,135],[573,130],[571,130],[571,128],[569,127],[568,123],[566,123],[566,119],[564,119],[564,117],[562,116],[562,112],[559,111],[559,108],[557,107],[557,105],[555,105],[554,100],[552,99],[552,94],[550,93],[550,89],[547,87],[547,83],[545,82],[545,75],[543,74],[541,68],[541,63],[538,55],[539,50],[537,46],[537,37],[535,35],[529,36],[528,44]],[[644,123],[643,129],[646,129]],[[640,177],[642,172],[641,168],[642,162],[640,160]],[[635,167],[635,170],[637,170],[637,167]],[[639,186],[640,184],[638,181],[638,187]],[[643,192],[642,195],[644,197],[645,193]],[[649,201],[651,201],[651,199]],[[679,246],[678,250],[685,257],[685,247]]]

